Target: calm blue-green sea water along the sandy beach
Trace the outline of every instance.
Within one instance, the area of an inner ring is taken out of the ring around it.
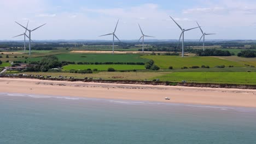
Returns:
[[[256,109],[0,93],[0,143],[256,143]]]

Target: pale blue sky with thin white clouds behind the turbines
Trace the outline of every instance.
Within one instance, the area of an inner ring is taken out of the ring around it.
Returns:
[[[118,21],[119,39],[135,40],[144,34],[155,38],[178,39],[181,29],[171,20],[188,29],[200,23],[206,39],[256,39],[255,0],[1,0],[0,40],[25,32],[15,21],[34,29],[34,40],[87,39],[111,40],[98,35],[112,33]],[[185,33],[185,39],[200,39],[200,29]]]

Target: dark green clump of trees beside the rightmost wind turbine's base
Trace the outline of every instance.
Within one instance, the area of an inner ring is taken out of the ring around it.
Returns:
[[[194,50],[196,56],[231,56],[229,51],[206,49],[206,50]]]

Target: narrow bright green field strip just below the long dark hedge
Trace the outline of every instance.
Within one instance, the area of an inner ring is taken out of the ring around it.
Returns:
[[[108,70],[108,68],[114,68],[115,70],[141,70],[145,69],[144,65],[125,65],[125,64],[105,64],[105,65],[79,65],[79,64],[69,64],[63,67],[63,70],[86,70],[86,69],[98,69],[98,70]]]

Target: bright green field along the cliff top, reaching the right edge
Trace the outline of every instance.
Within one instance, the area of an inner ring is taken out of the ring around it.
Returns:
[[[246,72],[174,72],[154,77],[161,81],[199,82],[199,83],[233,83],[256,85],[256,73]]]

